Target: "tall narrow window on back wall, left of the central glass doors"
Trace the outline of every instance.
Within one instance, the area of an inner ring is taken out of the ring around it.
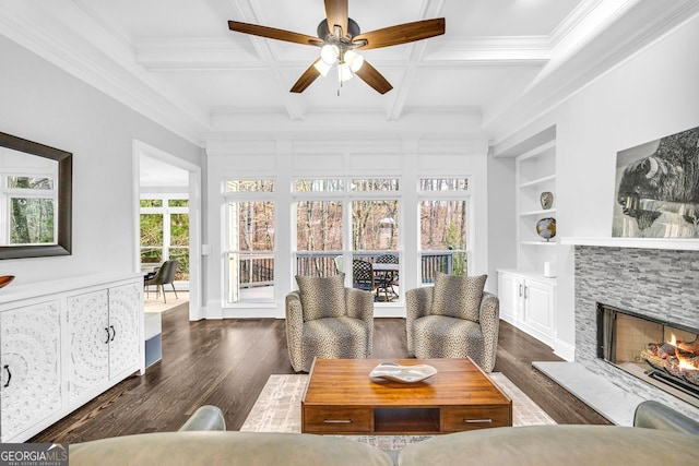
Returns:
[[[226,302],[274,302],[274,180],[230,180],[226,191]]]

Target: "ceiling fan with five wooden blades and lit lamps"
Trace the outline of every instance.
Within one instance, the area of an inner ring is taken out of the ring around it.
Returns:
[[[407,44],[445,34],[443,17],[399,24],[362,34],[359,25],[348,17],[348,0],[324,1],[327,19],[318,25],[318,37],[238,21],[228,21],[228,28],[238,33],[320,47],[320,58],[296,81],[291,89],[293,93],[303,93],[318,76],[325,76],[336,64],[340,82],[351,79],[354,73],[380,94],[386,94],[393,88],[391,83],[356,50]]]

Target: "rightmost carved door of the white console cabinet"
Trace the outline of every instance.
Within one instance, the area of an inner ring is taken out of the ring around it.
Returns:
[[[141,312],[141,287],[129,284],[109,288],[109,377],[139,366],[141,343],[139,316]]]

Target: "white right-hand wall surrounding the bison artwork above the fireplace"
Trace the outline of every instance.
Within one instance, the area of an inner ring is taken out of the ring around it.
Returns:
[[[611,237],[617,152],[699,127],[698,44],[695,17],[497,145],[556,126],[559,237]],[[558,338],[574,345],[573,251],[558,248]]]

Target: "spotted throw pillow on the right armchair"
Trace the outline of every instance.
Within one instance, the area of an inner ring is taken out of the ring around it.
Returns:
[[[438,272],[430,313],[478,322],[483,287],[487,278],[487,275],[470,277]]]

